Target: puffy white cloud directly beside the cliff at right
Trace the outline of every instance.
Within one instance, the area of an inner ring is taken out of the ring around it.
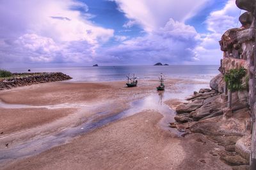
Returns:
[[[228,0],[223,9],[212,11],[205,20],[209,33],[200,34],[201,43],[194,50],[201,63],[212,62],[218,64],[223,57],[219,45],[221,36],[228,29],[237,27],[239,18],[240,10],[237,8],[235,1]]]

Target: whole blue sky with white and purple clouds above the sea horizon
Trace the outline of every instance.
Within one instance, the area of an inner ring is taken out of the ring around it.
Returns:
[[[0,68],[220,64],[240,13],[235,0],[1,0]]]

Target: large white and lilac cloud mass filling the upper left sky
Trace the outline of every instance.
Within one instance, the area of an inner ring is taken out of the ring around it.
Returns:
[[[73,0],[1,1],[0,39],[5,45],[0,47],[0,62],[10,60],[5,57],[15,56],[26,62],[79,62],[92,59],[95,48],[108,41],[114,31],[93,24],[88,17],[84,17],[90,16],[90,13],[74,10],[78,7],[88,11],[86,4]],[[83,46],[85,49],[70,45]],[[15,48],[15,52],[11,48]],[[8,54],[10,52],[12,54]],[[76,57],[78,55],[84,59]]]

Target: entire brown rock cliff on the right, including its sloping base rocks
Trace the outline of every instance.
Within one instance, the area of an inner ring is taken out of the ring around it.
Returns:
[[[218,142],[225,150],[218,152],[220,159],[233,169],[256,168],[256,80],[255,80],[255,38],[256,38],[256,1],[236,0],[239,8],[246,10],[239,17],[242,26],[229,29],[220,40],[223,59],[220,74],[212,78],[211,89],[201,89],[187,98],[188,103],[177,106],[176,123],[170,127],[183,127],[182,132],[198,132]],[[253,5],[252,5],[253,4]],[[227,83],[225,75],[234,69],[244,68],[246,75],[241,80],[246,88],[230,90],[232,107],[227,107]],[[180,124],[182,123],[182,126]],[[253,127],[252,127],[253,125]],[[188,130],[189,129],[189,130]],[[250,159],[251,157],[251,159]]]

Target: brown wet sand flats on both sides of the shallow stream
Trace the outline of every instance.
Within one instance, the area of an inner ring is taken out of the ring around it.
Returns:
[[[206,83],[188,80],[168,80],[166,92],[170,92],[173,99],[188,95],[180,95],[180,92],[186,91],[186,87],[182,88],[180,83],[192,84],[195,88],[207,86]],[[157,84],[158,81],[141,81],[138,87],[129,89],[124,87],[124,82],[55,82],[4,90],[0,92],[2,103],[6,104],[0,104],[2,107],[0,117],[3,121],[0,123],[4,124],[0,129],[3,131],[3,134],[0,134],[0,155],[11,152],[13,148],[26,141],[33,139],[40,141],[42,136],[54,136],[63,129],[83,125],[95,114],[97,115],[93,119],[95,122],[116,115],[131,107],[129,103],[132,101],[156,93],[154,87]],[[17,105],[20,108],[13,109],[7,107],[11,106],[10,104],[21,105]],[[31,108],[28,108],[28,105]],[[106,111],[108,113],[105,113]],[[4,162],[0,162],[0,167],[1,169],[231,169],[221,162],[218,156],[209,154],[211,150],[220,146],[207,139],[203,139],[207,145],[196,141],[197,138],[203,138],[199,134],[180,138],[173,131],[163,130],[159,126],[161,120],[163,120],[161,113],[146,108],[135,115],[103,124],[93,131],[79,133],[73,138],[68,138],[65,143],[54,145],[44,152],[36,152],[36,147],[39,147],[36,143],[38,146],[24,148],[24,150],[33,150],[35,147],[35,154],[29,152],[31,154],[26,157],[4,159]],[[8,148],[5,147],[6,143],[9,143]]]

